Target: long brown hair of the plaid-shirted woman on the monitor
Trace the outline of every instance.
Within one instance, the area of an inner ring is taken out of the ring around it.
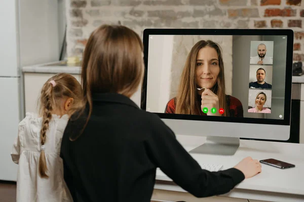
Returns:
[[[224,78],[224,64],[222,59],[221,47],[211,40],[201,40],[197,42],[191,49],[186,59],[183,72],[181,74],[181,81],[176,96],[176,114],[191,114],[196,115],[197,110],[201,110],[201,106],[198,104],[198,92],[195,82],[195,70],[197,66],[197,55],[201,48],[206,46],[215,49],[218,55],[219,61],[219,73],[217,81],[213,86],[214,93],[218,96],[219,108],[224,109],[223,116],[228,116],[229,108],[227,108],[227,100],[225,94],[225,78]]]

